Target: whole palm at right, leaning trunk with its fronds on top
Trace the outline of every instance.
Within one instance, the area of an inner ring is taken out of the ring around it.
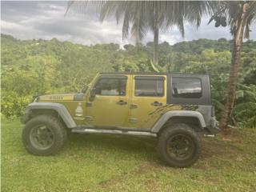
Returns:
[[[250,24],[256,21],[256,2],[218,2],[218,5],[214,7],[214,12],[215,14],[210,19],[210,22],[215,20],[215,26],[226,26],[227,19],[230,26],[230,32],[234,37],[227,100],[220,121],[220,127],[222,127],[223,130],[226,130],[234,108],[242,40],[243,38],[250,37]]]

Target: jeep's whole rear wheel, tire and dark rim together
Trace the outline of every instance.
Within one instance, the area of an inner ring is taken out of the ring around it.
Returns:
[[[158,152],[170,166],[191,166],[201,154],[201,141],[190,126],[174,124],[159,134]]]

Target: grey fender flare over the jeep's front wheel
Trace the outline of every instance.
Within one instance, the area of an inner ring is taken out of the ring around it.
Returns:
[[[60,103],[56,102],[32,102],[30,105],[26,106],[24,116],[22,117],[22,122],[27,122],[29,120],[29,115],[31,110],[55,110],[63,119],[68,128],[76,127],[76,123],[70,115],[70,112]]]

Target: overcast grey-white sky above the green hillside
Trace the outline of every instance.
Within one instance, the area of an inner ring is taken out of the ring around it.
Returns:
[[[85,45],[115,42],[120,45],[134,43],[134,39],[122,40],[122,25],[115,19],[99,22],[94,10],[78,13],[71,10],[66,17],[67,2],[63,1],[2,1],[1,33],[11,34],[15,38],[32,39],[58,38],[61,41],[82,43]],[[232,38],[226,27],[214,27],[214,22],[207,25],[209,18],[203,18],[198,28],[186,24],[185,38],[177,28],[160,34],[160,42],[174,44],[198,38]],[[252,27],[250,38],[256,40],[256,27]],[[153,34],[146,34],[143,42],[153,41]]]

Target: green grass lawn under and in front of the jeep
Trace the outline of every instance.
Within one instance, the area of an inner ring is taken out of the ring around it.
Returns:
[[[2,191],[256,191],[256,130],[202,138],[194,166],[158,158],[156,140],[74,134],[58,154],[37,157],[21,142],[22,125],[2,122]]]

